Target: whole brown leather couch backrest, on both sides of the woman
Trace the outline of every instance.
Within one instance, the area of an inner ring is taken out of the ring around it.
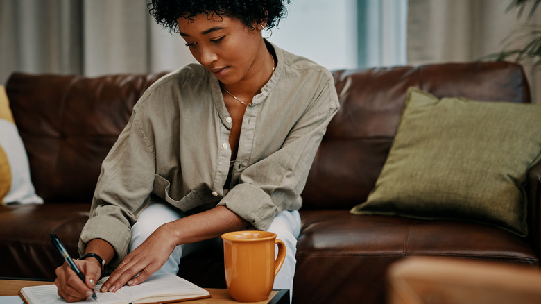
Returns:
[[[366,200],[400,119],[406,90],[481,101],[530,102],[519,65],[508,62],[334,71],[341,109],[323,138],[303,192],[304,208],[349,209]],[[31,176],[46,201],[90,202],[101,162],[139,96],[164,74],[13,74],[6,92]]]

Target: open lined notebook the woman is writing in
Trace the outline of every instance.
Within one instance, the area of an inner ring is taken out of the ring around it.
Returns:
[[[103,278],[100,280],[94,288],[99,304],[168,303],[210,297],[210,293],[207,290],[171,273],[151,276],[139,285],[123,286],[117,292],[99,292],[101,285],[106,279]],[[19,295],[27,304],[67,303],[63,298],[58,296],[56,285],[24,287],[19,292]],[[90,297],[85,301],[75,303],[92,302],[96,303]]]

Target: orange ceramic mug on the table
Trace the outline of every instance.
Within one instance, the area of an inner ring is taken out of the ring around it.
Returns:
[[[268,298],[274,277],[284,264],[286,246],[275,233],[236,231],[224,233],[223,258],[227,291],[237,301],[256,302]],[[278,255],[275,260],[275,244]]]

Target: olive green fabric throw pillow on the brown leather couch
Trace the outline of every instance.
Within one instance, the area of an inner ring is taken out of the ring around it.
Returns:
[[[540,124],[539,104],[437,99],[412,87],[376,185],[351,212],[474,221],[525,237]]]

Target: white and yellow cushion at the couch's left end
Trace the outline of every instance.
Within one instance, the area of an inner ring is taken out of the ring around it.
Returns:
[[[0,85],[0,204],[43,203],[35,194],[24,144]]]

